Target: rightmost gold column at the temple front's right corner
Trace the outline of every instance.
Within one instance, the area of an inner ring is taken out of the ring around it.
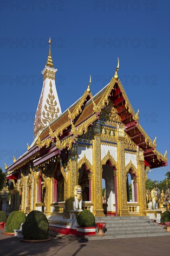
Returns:
[[[144,173],[144,154],[142,150],[137,152],[137,173],[138,173],[138,188],[137,194],[140,197],[139,215],[145,216],[146,210],[146,188],[145,188],[145,173]]]

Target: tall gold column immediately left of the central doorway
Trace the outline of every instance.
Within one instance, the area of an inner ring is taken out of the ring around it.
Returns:
[[[101,170],[101,146],[100,135],[94,135],[93,139],[93,181],[94,181],[94,207],[95,216],[105,216],[102,203],[102,170]]]

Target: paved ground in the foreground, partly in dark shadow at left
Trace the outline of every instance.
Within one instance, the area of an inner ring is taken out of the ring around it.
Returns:
[[[75,236],[50,236],[49,242],[25,243],[0,229],[0,256],[162,256],[170,255],[170,236],[85,242]]]

